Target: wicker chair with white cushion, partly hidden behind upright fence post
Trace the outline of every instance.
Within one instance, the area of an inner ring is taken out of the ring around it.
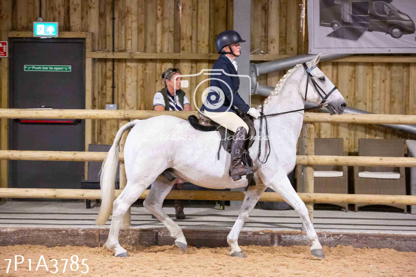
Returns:
[[[343,139],[342,138],[315,138],[314,151],[315,155],[343,156]],[[299,140],[299,155],[305,155],[304,142]],[[340,177],[317,177],[315,172],[314,192],[316,193],[348,193],[348,168],[347,166],[314,166],[315,171],[337,171],[342,172]],[[304,192],[302,166],[297,166],[297,192]],[[348,212],[348,204],[332,203],[345,208]]]

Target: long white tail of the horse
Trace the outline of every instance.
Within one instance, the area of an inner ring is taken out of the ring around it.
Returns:
[[[100,186],[101,186],[101,207],[95,220],[96,225],[103,225],[110,217],[113,209],[113,202],[116,199],[114,188],[116,184],[116,173],[119,165],[119,143],[123,133],[136,125],[138,120],[131,121],[124,124],[116,134],[113,145],[107,153],[104,162],[99,172]]]

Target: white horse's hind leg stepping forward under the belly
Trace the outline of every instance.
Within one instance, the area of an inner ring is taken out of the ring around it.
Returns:
[[[185,251],[188,243],[186,242],[181,227],[169,218],[162,209],[163,200],[166,198],[169,191],[171,191],[173,184],[174,182],[163,181],[161,177],[157,178],[156,181],[152,183],[149,195],[147,195],[143,205],[149,212],[154,214],[166,228],[168,228],[171,237],[175,239],[175,244]]]

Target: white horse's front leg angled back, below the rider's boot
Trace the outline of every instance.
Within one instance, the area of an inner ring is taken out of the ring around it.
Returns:
[[[260,199],[261,194],[265,191],[266,187],[262,184],[251,186],[248,188],[245,193],[243,205],[241,205],[240,213],[237,220],[234,223],[233,228],[227,236],[228,245],[231,246],[231,257],[247,257],[241,248],[238,246],[238,236],[240,235],[241,228],[245,223],[245,220],[250,216],[250,213],[253,211],[254,206]]]

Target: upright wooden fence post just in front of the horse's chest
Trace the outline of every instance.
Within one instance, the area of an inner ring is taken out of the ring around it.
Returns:
[[[305,153],[307,156],[314,155],[315,128],[313,124],[307,123],[302,129],[302,138],[305,145]],[[305,166],[303,169],[304,191],[305,193],[314,192],[314,168],[313,166]],[[305,203],[309,211],[309,218],[313,222],[313,203]]]

